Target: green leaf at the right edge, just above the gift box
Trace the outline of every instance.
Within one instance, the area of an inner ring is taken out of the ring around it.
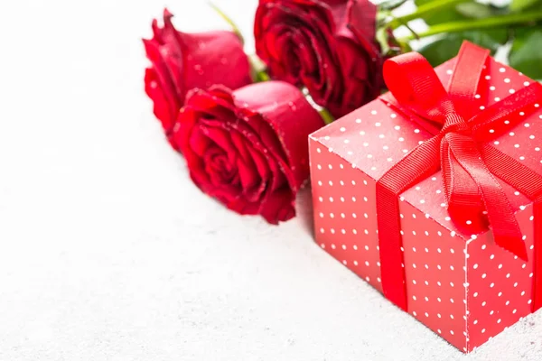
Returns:
[[[509,64],[532,79],[542,79],[542,27],[524,28],[516,32]]]

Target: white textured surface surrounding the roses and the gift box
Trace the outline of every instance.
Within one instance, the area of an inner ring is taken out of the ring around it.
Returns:
[[[216,2],[249,39],[256,2]],[[194,3],[179,27],[220,23]],[[202,195],[143,91],[162,5],[0,2],[0,360],[542,358],[542,313],[463,356],[391,306],[313,244],[307,191],[280,227]]]

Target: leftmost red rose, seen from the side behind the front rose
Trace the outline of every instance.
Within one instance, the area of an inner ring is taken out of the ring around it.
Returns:
[[[146,56],[152,62],[145,72],[145,91],[154,101],[154,115],[162,122],[170,143],[190,89],[214,84],[240,88],[252,82],[247,55],[234,32],[178,32],[172,17],[164,10],[164,27],[154,19],[154,37],[144,40]]]

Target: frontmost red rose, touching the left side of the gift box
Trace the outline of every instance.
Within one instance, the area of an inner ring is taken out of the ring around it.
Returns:
[[[203,192],[277,224],[295,215],[295,195],[309,176],[307,138],[323,125],[298,88],[267,81],[192,90],[173,138]]]

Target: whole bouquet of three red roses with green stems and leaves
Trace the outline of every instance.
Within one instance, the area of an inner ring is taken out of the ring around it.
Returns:
[[[235,26],[181,32],[165,10],[144,41],[145,91],[194,183],[240,214],[272,224],[293,218],[309,178],[308,135],[378,97],[384,60],[422,37],[447,34],[419,50],[432,65],[452,58],[464,39],[491,51],[512,42],[510,63],[542,78],[533,46],[542,32],[527,26],[542,19],[538,0],[416,0],[415,12],[395,16],[406,2],[259,0],[250,57]],[[412,30],[416,19],[427,30]],[[405,37],[394,35],[398,28]]]

